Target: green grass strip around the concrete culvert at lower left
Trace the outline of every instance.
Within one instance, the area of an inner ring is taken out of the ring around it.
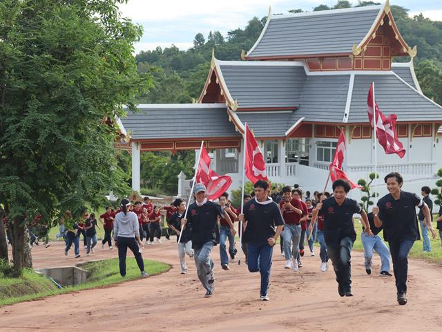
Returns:
[[[149,260],[144,260],[144,266],[146,266],[149,275],[164,273],[171,268],[168,264]],[[57,288],[50,279],[30,269],[23,270],[23,275],[19,278],[4,277],[0,271],[0,306],[88,288],[104,287],[140,278],[140,269],[133,257],[126,259],[126,276],[124,278],[119,275],[118,259],[116,258],[90,261],[81,265],[81,268],[90,273],[87,281],[84,284],[61,289]]]

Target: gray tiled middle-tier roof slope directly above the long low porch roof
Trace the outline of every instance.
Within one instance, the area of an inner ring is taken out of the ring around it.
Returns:
[[[218,62],[224,82],[239,108],[298,107],[305,80],[303,66],[281,63]]]

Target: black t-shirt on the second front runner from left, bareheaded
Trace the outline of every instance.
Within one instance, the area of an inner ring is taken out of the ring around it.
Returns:
[[[275,236],[276,227],[284,225],[279,206],[273,201],[260,204],[256,199],[251,199],[244,205],[244,219],[247,221],[247,228],[242,241],[246,243],[267,243],[269,237]]]

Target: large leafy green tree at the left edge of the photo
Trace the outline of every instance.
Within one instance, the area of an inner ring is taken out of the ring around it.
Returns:
[[[121,17],[124,0],[0,3],[0,203],[12,257],[26,263],[26,223],[53,225],[97,208],[105,192],[130,191],[117,165],[115,116],[151,77],[138,75],[142,28]],[[27,263],[29,266],[32,261]]]

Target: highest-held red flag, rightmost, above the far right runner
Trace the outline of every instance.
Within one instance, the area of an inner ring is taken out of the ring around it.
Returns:
[[[398,133],[396,131],[396,114],[384,116],[378,107],[376,100],[373,100],[373,83],[370,84],[370,89],[367,95],[367,113],[370,125],[373,126],[373,111],[376,110],[376,137],[379,144],[384,148],[385,154],[397,154],[403,158],[405,156],[405,149],[398,140]]]

